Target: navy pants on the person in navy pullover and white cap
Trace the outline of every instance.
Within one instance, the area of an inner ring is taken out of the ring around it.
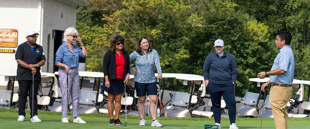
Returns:
[[[213,115],[215,123],[221,122],[221,98],[223,96],[226,106],[228,107],[228,116],[230,124],[236,121],[236,99],[235,87],[233,83],[229,84],[213,84],[208,83],[207,89],[210,93]]]

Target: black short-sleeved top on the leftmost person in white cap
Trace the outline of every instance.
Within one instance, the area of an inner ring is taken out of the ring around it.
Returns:
[[[31,51],[31,48],[29,47],[27,41],[20,44],[16,50],[15,53],[15,60],[20,59],[23,60],[27,64],[37,64],[41,60],[46,60],[45,56],[43,54],[43,48],[42,46],[38,44],[34,44],[33,52]],[[34,80],[41,80],[41,68],[38,67],[37,73],[34,75]],[[32,80],[32,73],[31,69],[21,67],[19,64],[17,64],[17,80]]]

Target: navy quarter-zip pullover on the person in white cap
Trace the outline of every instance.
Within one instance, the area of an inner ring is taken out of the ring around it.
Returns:
[[[206,57],[203,65],[203,77],[213,84],[228,84],[236,82],[237,66],[235,58],[224,52],[220,58],[219,54],[213,52]]]

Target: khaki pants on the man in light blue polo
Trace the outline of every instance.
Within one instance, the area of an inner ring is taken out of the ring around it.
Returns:
[[[277,129],[288,129],[286,105],[291,97],[292,87],[272,86],[270,89],[269,103]]]

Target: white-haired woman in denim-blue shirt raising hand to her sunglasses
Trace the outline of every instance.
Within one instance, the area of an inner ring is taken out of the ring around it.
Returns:
[[[55,65],[59,67],[59,84],[62,93],[61,98],[61,122],[69,123],[67,114],[67,101],[69,95],[72,98],[72,113],[73,122],[86,123],[79,117],[79,93],[80,93],[80,78],[78,74],[79,57],[85,58],[87,51],[82,43],[82,39],[78,36],[78,31],[74,27],[69,27],[64,31],[64,43],[60,45],[56,52]],[[75,44],[75,40],[81,44],[82,50]],[[67,83],[68,75],[68,83]],[[67,94],[68,93],[68,94]],[[68,96],[68,98],[67,98]]]

